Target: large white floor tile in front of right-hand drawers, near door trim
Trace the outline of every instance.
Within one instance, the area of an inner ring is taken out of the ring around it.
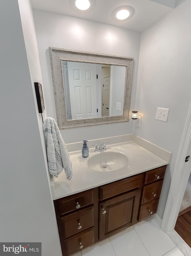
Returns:
[[[170,237],[161,230],[160,218],[152,216],[134,226],[135,231],[151,256],[161,256],[176,245]]]

